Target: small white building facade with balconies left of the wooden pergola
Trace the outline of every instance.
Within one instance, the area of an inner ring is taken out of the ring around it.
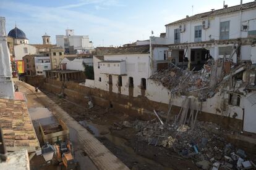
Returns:
[[[49,57],[35,57],[36,75],[44,75],[44,70],[51,70]]]

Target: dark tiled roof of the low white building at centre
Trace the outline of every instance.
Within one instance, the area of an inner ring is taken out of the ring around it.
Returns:
[[[109,48],[105,51],[105,54],[102,55],[113,55],[113,54],[148,54],[150,52],[149,45],[143,46],[129,46],[129,47],[118,47],[118,48]]]

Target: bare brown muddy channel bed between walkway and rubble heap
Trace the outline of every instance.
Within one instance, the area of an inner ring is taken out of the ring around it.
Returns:
[[[192,160],[181,158],[177,153],[170,152],[164,147],[155,147],[137,140],[136,134],[139,129],[119,129],[113,126],[113,124],[122,124],[126,120],[134,121],[134,117],[113,108],[95,106],[88,110],[54,94],[48,92],[45,94],[94,134],[130,169],[198,169]]]

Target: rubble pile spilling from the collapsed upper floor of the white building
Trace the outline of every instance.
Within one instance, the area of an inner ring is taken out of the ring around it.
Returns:
[[[172,90],[174,94],[186,94],[186,92],[207,87],[210,75],[207,69],[187,71],[173,67],[151,75],[150,79],[161,83],[164,87]]]

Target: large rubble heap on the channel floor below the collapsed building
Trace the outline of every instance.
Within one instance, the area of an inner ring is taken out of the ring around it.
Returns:
[[[125,127],[138,129],[139,141],[169,148],[182,158],[191,158],[198,168],[250,169],[255,166],[252,161],[247,160],[244,150],[234,148],[221,137],[224,130],[217,124],[198,121],[197,126],[191,129],[186,124],[163,126],[155,120],[136,120],[123,124],[127,125]]]

